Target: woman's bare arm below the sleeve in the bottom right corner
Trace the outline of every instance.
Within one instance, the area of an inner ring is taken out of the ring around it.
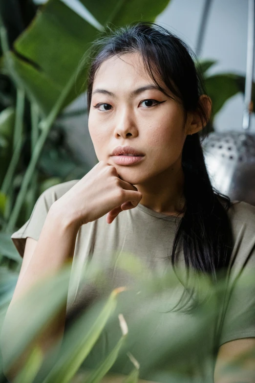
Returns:
[[[229,363],[249,351],[253,351],[253,357],[245,358],[240,369],[234,369],[228,374],[221,372]],[[236,339],[220,346],[214,369],[214,383],[255,383],[255,338]]]

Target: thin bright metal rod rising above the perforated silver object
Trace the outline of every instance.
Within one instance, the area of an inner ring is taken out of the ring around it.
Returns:
[[[244,93],[243,129],[250,128],[252,112],[252,86],[254,69],[254,35],[255,35],[255,0],[248,0],[248,36],[247,36],[247,63]]]

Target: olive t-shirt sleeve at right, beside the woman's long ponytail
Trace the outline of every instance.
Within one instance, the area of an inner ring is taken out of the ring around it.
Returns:
[[[231,340],[255,337],[255,207],[247,203],[242,206],[247,216],[239,222],[236,233],[238,239],[225,297],[219,346]]]

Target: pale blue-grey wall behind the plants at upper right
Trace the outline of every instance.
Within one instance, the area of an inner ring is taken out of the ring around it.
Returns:
[[[195,50],[204,0],[171,0],[156,22],[176,33]],[[217,60],[209,73],[245,74],[247,53],[248,0],[212,0],[201,58]],[[255,71],[254,71],[255,79]],[[220,91],[220,90],[219,90]],[[227,101],[215,118],[215,129],[241,130],[243,96]],[[251,119],[255,132],[255,115]]]

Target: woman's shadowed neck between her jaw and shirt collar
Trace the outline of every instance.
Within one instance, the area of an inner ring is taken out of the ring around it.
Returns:
[[[185,205],[181,158],[164,172],[134,186],[143,195],[140,201],[142,205],[166,215],[180,214]]]

